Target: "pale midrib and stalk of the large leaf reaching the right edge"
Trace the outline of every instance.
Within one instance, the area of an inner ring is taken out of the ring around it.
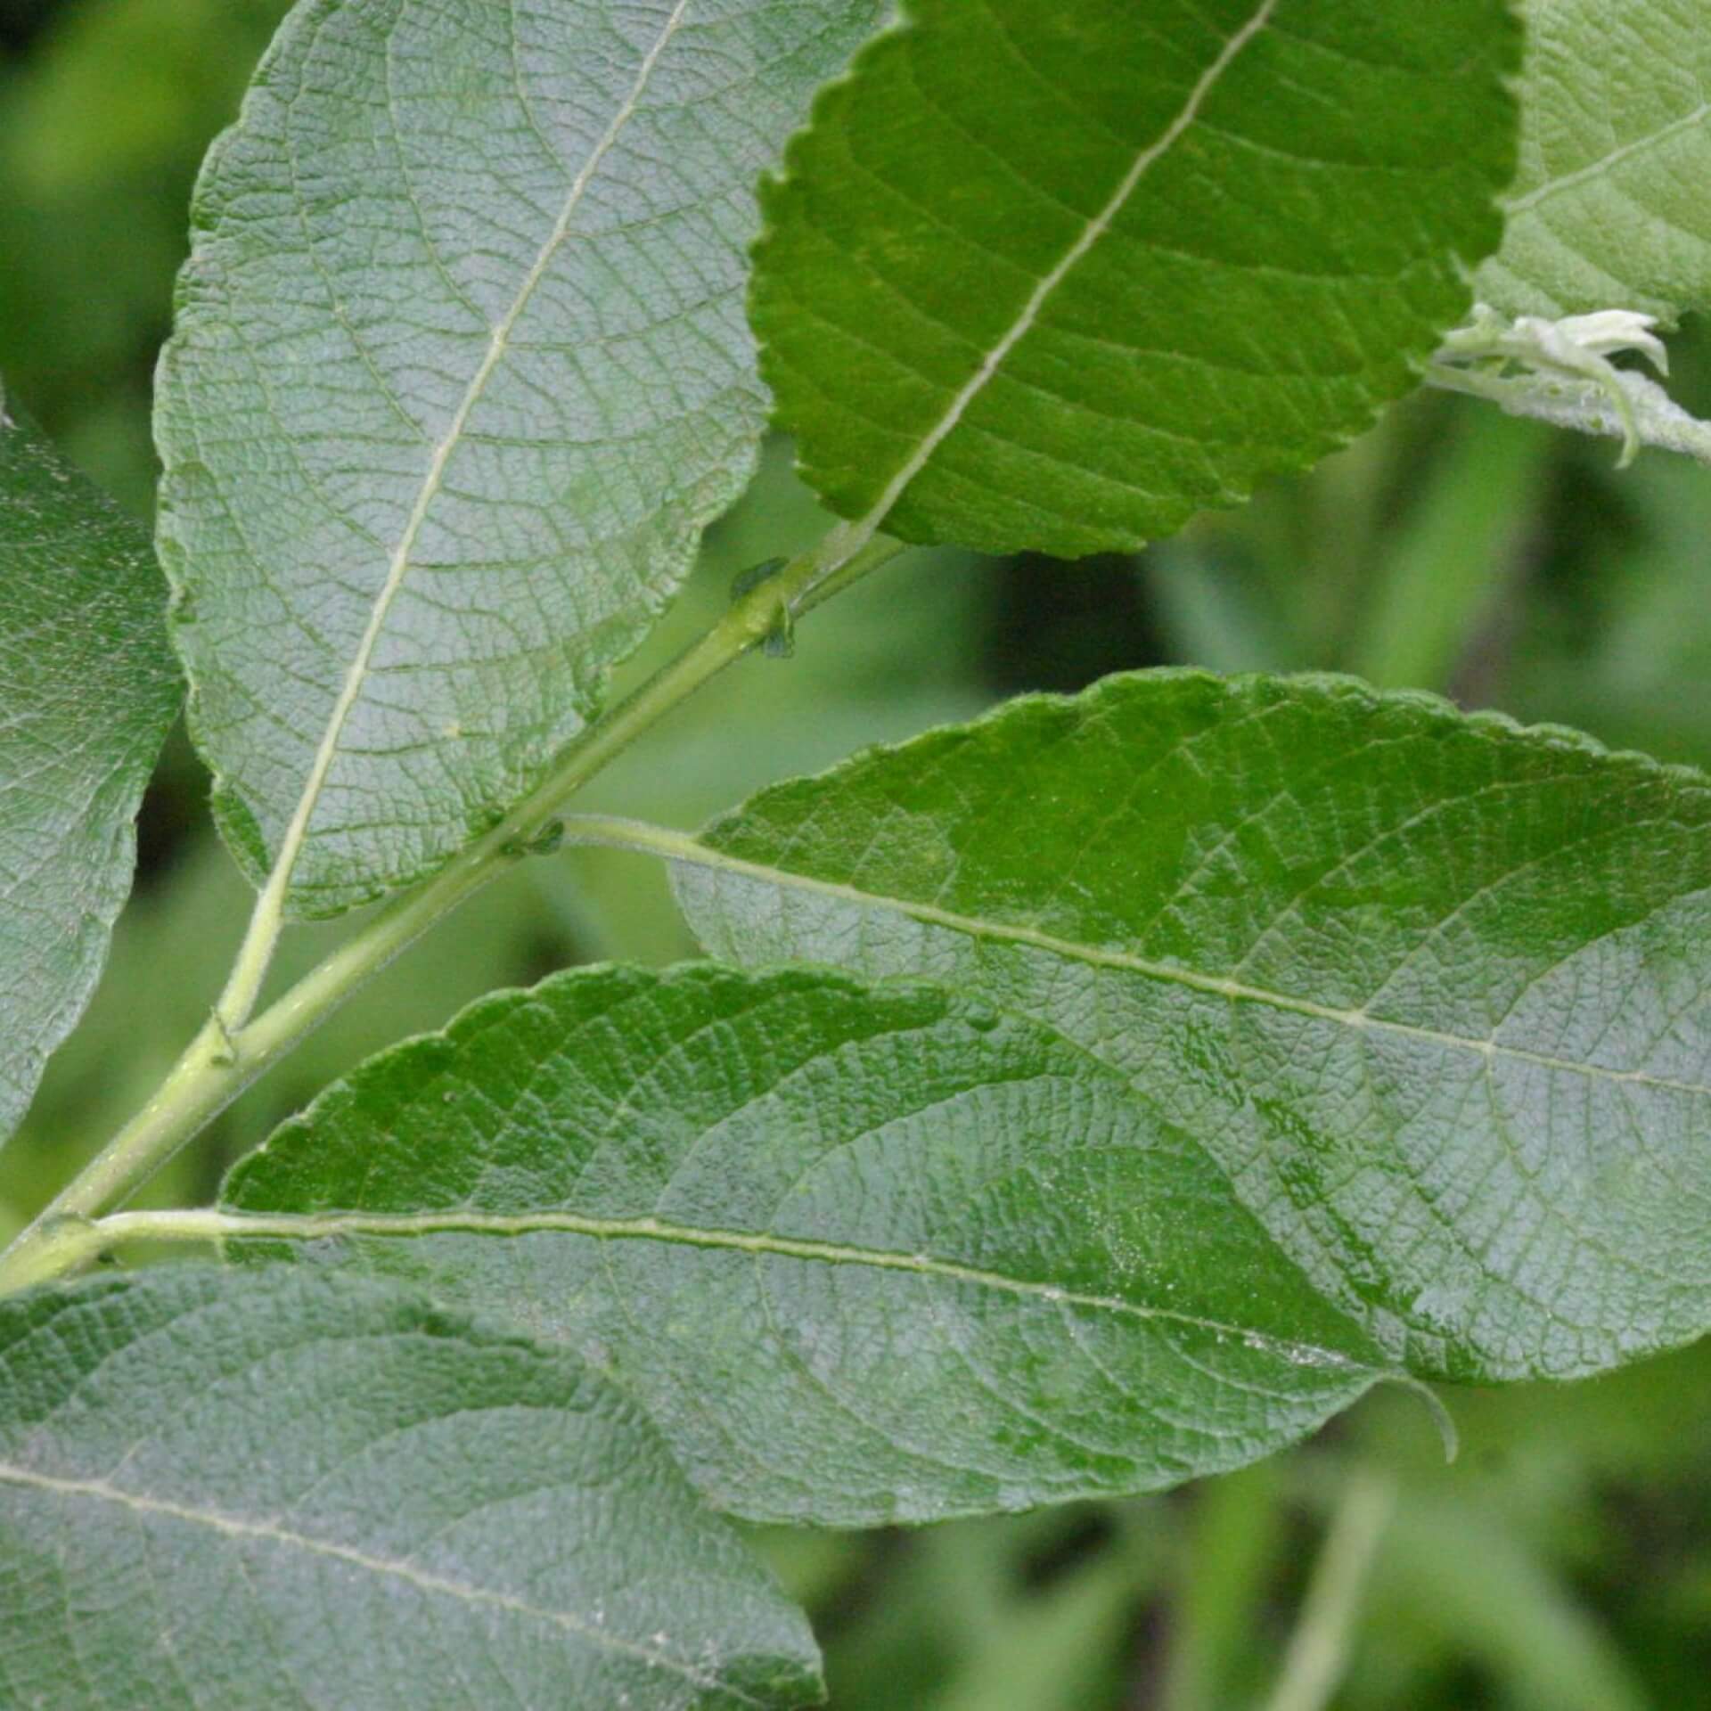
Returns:
[[[1174,963],[1150,962],[1145,956],[1133,956],[1128,951],[1105,950],[1095,944],[1076,944],[1073,939],[1061,939],[1035,927],[1016,927],[1008,922],[982,921],[977,915],[958,915],[953,910],[939,909],[934,903],[917,903],[897,897],[881,897],[874,891],[862,891],[852,885],[838,885],[833,879],[811,879],[804,874],[787,873],[782,867],[767,867],[761,862],[743,861],[737,856],[725,856],[708,849],[681,832],[667,832],[660,826],[640,821],[606,821],[606,820],[570,820],[566,833],[571,842],[606,844],[616,849],[631,849],[647,856],[662,856],[667,861],[681,861],[696,867],[708,867],[731,873],[743,879],[758,879],[763,885],[779,886],[789,891],[809,891],[816,897],[830,897],[857,909],[885,909],[891,914],[907,915],[922,926],[948,927],[977,939],[1001,939],[1009,944],[1027,944],[1035,950],[1051,951],[1054,956],[1066,956],[1075,962],[1092,963],[1100,968],[1121,968],[1126,974],[1141,975],[1146,980],[1160,980],[1169,986],[1182,986],[1194,992],[1210,992],[1242,1004],[1264,1004],[1270,1009],[1285,1009],[1299,1016],[1314,1016],[1321,1021],[1335,1021],[1345,1028],[1371,1030],[1374,1033],[1391,1033],[1410,1040],[1425,1040],[1451,1051],[1473,1052],[1478,1057],[1504,1057],[1516,1063],[1538,1064],[1542,1069],[1560,1069],[1569,1075],[1586,1076],[1595,1081],[1613,1081],[1624,1086],[1649,1086],[1670,1093],[1690,1093],[1704,1097],[1711,1088],[1696,1081],[1675,1081],[1668,1076],[1648,1075],[1643,1069],[1608,1069],[1603,1064],[1579,1063],[1572,1057],[1554,1057],[1550,1052],[1528,1051],[1525,1045],[1504,1045],[1497,1040],[1478,1040],[1465,1033],[1446,1033],[1441,1028],[1424,1028],[1412,1021],[1394,1021],[1384,1016],[1369,1015],[1364,1009],[1340,1009],[1335,1004],[1319,1004],[1311,998],[1292,998],[1287,992],[1273,992],[1263,986],[1247,986],[1242,980],[1230,980],[1223,975],[1199,974],[1193,968],[1181,968]]]

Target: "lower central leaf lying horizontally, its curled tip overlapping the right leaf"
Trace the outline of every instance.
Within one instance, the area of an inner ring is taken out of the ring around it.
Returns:
[[[571,1343],[760,1519],[1175,1485],[1384,1376],[1121,1076],[919,984],[561,975],[359,1069],[224,1203],[231,1252]]]

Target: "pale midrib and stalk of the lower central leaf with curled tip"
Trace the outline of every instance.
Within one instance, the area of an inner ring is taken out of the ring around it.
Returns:
[[[421,1239],[424,1235],[518,1237],[556,1232],[602,1242],[669,1242],[679,1247],[705,1247],[722,1252],[751,1254],[760,1259],[804,1259],[816,1264],[864,1266],[874,1271],[902,1271],[909,1276],[965,1283],[974,1288],[1020,1295],[1057,1307],[1083,1307],[1092,1312],[1119,1314],[1206,1331],[1218,1338],[1239,1338],[1246,1347],[1264,1350],[1292,1365],[1340,1367],[1362,1377],[1388,1377],[1389,1369],[1371,1367],[1331,1348],[1268,1336],[1240,1324],[1225,1324],[1174,1307],[1150,1307],[1121,1295],[1095,1295],[1063,1288],[1033,1278],[1013,1278],[1003,1271],[967,1266],[932,1254],[905,1254],[885,1247],[852,1247],[842,1242],[808,1240],[772,1230],[710,1230],[700,1225],[672,1223],[666,1218],[590,1218],[575,1211],[421,1211],[421,1213],[228,1213],[228,1211],[127,1211],[103,1218],[96,1228],[108,1242],[121,1240],[287,1240],[318,1242],[332,1239]]]

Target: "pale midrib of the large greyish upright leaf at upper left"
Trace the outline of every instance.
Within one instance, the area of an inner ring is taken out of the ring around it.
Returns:
[[[274,917],[279,917],[284,910],[284,898],[291,888],[291,874],[296,869],[298,859],[303,852],[303,845],[308,840],[310,821],[315,816],[315,808],[320,802],[322,790],[325,789],[327,777],[332,772],[332,763],[339,755],[339,743],[344,736],[346,720],[351,717],[351,710],[361,698],[363,686],[368,681],[368,669],[373,662],[375,648],[380,645],[380,635],[385,630],[387,616],[392,611],[392,604],[404,587],[404,578],[411,566],[411,554],[416,551],[416,542],[421,537],[423,525],[428,522],[428,513],[433,508],[435,500],[440,494],[440,488],[445,481],[447,467],[452,460],[453,452],[462,443],[464,431],[469,426],[469,417],[474,414],[476,406],[493,378],[494,370],[505,356],[510,335],[522,318],[524,311],[529,308],[530,299],[546,277],[546,270],[553,265],[553,257],[558,255],[565,240],[570,236],[570,224],[582,207],[582,198],[587,195],[589,185],[594,181],[594,175],[601,169],[606,156],[611,154],[613,145],[618,142],[623,128],[635,116],[640,103],[642,92],[647,89],[648,79],[654,75],[654,68],[659,65],[660,55],[669,46],[672,36],[683,24],[684,14],[690,10],[691,0],[678,0],[672,9],[671,17],[666,19],[666,26],[659,34],[659,39],[647,51],[642,60],[642,67],[636,72],[636,80],[625,98],[623,106],[614,115],[611,125],[601,135],[601,140],[594,145],[589,159],[583,163],[582,169],[577,173],[570,186],[570,193],[565,198],[565,207],[561,209],[558,221],[553,224],[553,231],[548,234],[546,243],[541,246],[541,253],[536,257],[534,265],[524,275],[524,282],[512,301],[512,306],[505,311],[500,322],[494,325],[491,337],[488,339],[488,349],[471,376],[469,387],[464,390],[464,397],[459,402],[457,411],[452,416],[450,426],[445,436],[435,447],[433,457],[428,462],[428,472],[423,477],[421,491],[416,494],[416,503],[411,506],[411,515],[404,524],[404,532],[399,537],[399,546],[392,554],[387,566],[385,582],[380,592],[375,595],[375,604],[368,614],[368,625],[363,630],[363,638],[358,643],[356,655],[351,660],[351,669],[346,672],[344,684],[339,690],[339,696],[332,705],[332,713],[327,719],[327,729],[322,734],[320,746],[315,751],[315,760],[310,767],[308,780],[303,785],[303,796],[298,799],[298,806],[293,811],[291,823],[286,826],[286,835],[279,845],[279,856],[274,861],[272,873],[267,878],[267,885],[262,891],[262,900],[257,905],[257,917],[263,915],[263,910]],[[226,1016],[228,1023],[243,1020],[241,1016]]]

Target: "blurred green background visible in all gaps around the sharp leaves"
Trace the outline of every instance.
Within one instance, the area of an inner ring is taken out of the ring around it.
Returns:
[[[144,515],[190,185],[282,10],[0,0],[0,370]],[[1704,334],[1673,352],[1678,397],[1711,414]],[[732,575],[820,527],[772,447],[648,657],[705,626]],[[1708,765],[1711,472],[1648,453],[1617,474],[1612,445],[1420,397],[1311,479],[1136,561],[910,554],[808,621],[794,659],[715,683],[587,806],[695,826],[864,743],[1160,662],[1359,671]],[[180,734],[108,977],[0,1158],[0,1235],[135,1109],[219,989],[248,895],[204,797]],[[281,979],[349,931],[294,932]],[[205,1196],[329,1078],[494,986],[691,953],[647,864],[525,862],[149,1194]],[[1711,1343],[1593,1384],[1446,1401],[1453,1466],[1418,1400],[1379,1394],[1290,1456],[1170,1497],[761,1543],[814,1613],[837,1711],[1261,1711],[1338,1514],[1382,1531],[1347,1678],[1290,1711],[1711,1708]]]

